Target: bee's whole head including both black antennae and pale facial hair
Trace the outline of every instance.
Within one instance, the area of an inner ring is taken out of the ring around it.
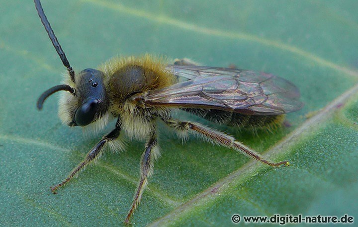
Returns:
[[[104,119],[101,122],[105,122],[105,119],[108,118],[109,102],[103,83],[104,74],[99,70],[85,69],[75,75],[47,20],[40,0],[34,1],[41,22],[70,76],[65,84],[57,85],[45,91],[37,101],[37,108],[41,110],[47,97],[52,94],[58,91],[68,91],[69,93],[64,93],[60,99],[59,116],[62,122],[70,126],[86,126],[98,119]]]

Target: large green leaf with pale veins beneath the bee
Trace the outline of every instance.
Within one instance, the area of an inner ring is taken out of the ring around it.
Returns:
[[[43,0],[77,70],[112,56],[163,54],[203,65],[266,71],[290,80],[305,107],[273,132],[216,127],[270,160],[271,168],[159,124],[155,165],[135,226],[230,225],[231,216],[357,216],[358,3],[346,1]],[[85,136],[57,117],[63,66],[31,1],[1,0],[0,214],[4,226],[118,226],[139,180],[145,141],[107,152],[57,195],[59,183],[102,134]],[[106,133],[113,127],[111,122]]]

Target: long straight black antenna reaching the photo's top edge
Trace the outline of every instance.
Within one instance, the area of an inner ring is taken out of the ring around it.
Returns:
[[[60,43],[58,42],[58,40],[56,38],[56,35],[55,35],[54,31],[51,28],[50,23],[47,20],[47,17],[45,15],[45,12],[43,11],[43,8],[42,8],[40,0],[34,0],[34,2],[35,2],[37,13],[40,16],[42,24],[45,26],[47,34],[49,35],[49,37],[51,39],[51,42],[52,42],[53,46],[55,47],[55,49],[57,51],[57,54],[60,56],[61,61],[64,64],[64,66],[67,67],[67,70],[68,70],[68,72],[70,74],[71,80],[73,82],[75,82],[75,71],[70,66],[70,63],[67,60],[65,52],[62,50],[62,47],[61,47]]]

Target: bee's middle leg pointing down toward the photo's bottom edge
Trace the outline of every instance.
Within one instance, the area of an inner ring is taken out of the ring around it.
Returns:
[[[145,186],[147,185],[147,178],[153,173],[153,164],[154,161],[159,156],[159,149],[157,147],[157,136],[154,132],[149,139],[148,143],[146,144],[146,149],[142,154],[142,161],[141,161],[141,178],[139,180],[137,192],[134,194],[133,203],[131,209],[128,212],[127,218],[124,221],[125,223],[129,223],[129,219],[132,217],[134,211],[136,210],[139,202],[142,198],[142,194],[144,191]]]

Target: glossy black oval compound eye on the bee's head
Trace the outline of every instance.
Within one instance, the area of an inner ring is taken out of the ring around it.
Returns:
[[[98,106],[97,99],[89,99],[76,111],[75,122],[77,125],[86,126],[92,122]]]

